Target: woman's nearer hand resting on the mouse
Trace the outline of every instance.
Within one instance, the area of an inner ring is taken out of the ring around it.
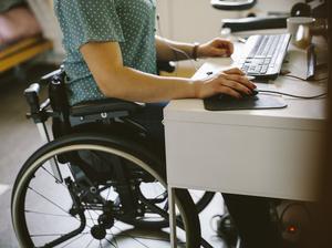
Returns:
[[[242,94],[250,95],[252,90],[256,89],[256,85],[239,69],[216,73],[207,79],[194,82],[194,85],[197,99],[206,99],[220,93],[240,99]]]

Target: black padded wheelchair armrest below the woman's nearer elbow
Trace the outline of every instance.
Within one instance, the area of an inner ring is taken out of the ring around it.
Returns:
[[[143,106],[117,99],[104,99],[96,101],[89,101],[76,104],[71,107],[70,114],[74,117],[96,115],[102,113],[115,113],[115,112],[135,112],[141,110]]]

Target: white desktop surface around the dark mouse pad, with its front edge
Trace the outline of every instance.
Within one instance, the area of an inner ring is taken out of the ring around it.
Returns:
[[[237,44],[234,59],[237,59],[241,51],[241,44]],[[307,73],[307,53],[302,50],[290,49],[289,63],[283,69],[291,71],[301,78]],[[203,79],[206,72],[218,72],[231,68],[232,59],[209,59],[194,75],[194,79]],[[288,76],[279,76],[270,83],[257,83],[259,90],[281,91],[295,95],[318,95],[326,92],[326,82],[304,82]],[[286,100],[288,107],[282,110],[253,110],[253,111],[227,111],[210,112],[204,108],[201,100],[177,100],[172,101],[165,108],[166,120],[238,123],[239,118],[243,124],[272,125],[276,127],[294,128],[322,128],[322,121],[325,118],[324,100],[299,100],[288,96],[276,96]],[[227,117],[225,117],[227,116]],[[257,123],[259,122],[259,123]],[[268,122],[268,123],[261,123]]]

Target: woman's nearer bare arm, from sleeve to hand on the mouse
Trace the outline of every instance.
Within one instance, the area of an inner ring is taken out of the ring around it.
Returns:
[[[250,94],[255,87],[239,70],[201,81],[147,74],[124,66],[117,42],[89,42],[80,51],[100,90],[107,97],[145,103],[203,99],[222,92],[240,97],[239,92]]]

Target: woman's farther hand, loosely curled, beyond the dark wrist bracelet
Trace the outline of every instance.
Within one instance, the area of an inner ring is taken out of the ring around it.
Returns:
[[[207,43],[200,44],[197,50],[198,58],[230,56],[234,53],[234,44],[221,38],[216,38]]]

